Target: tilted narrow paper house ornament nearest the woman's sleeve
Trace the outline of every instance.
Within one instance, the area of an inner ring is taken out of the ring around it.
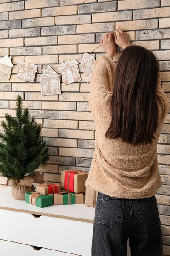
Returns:
[[[95,58],[92,55],[85,52],[81,61],[81,65],[82,65],[82,69],[85,74],[85,79],[87,83],[90,82],[91,75],[94,69],[94,63],[95,63]]]

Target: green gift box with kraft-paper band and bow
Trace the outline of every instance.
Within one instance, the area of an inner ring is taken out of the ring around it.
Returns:
[[[26,202],[28,204],[33,204],[38,207],[47,207],[53,205],[52,195],[39,195],[37,192],[26,193]]]

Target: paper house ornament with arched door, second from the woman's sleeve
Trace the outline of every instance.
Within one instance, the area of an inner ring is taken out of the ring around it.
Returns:
[[[64,84],[71,84],[81,80],[78,62],[76,60],[63,62],[59,65]]]

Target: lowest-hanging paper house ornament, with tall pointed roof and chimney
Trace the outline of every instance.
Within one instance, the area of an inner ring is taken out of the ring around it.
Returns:
[[[41,76],[41,93],[42,95],[60,94],[60,77],[48,66],[46,70],[42,70]]]

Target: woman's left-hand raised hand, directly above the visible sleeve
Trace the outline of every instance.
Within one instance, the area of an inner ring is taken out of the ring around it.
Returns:
[[[114,57],[116,54],[116,44],[114,42],[114,35],[113,33],[105,34],[103,39],[100,41],[104,51],[107,55],[111,55]]]

